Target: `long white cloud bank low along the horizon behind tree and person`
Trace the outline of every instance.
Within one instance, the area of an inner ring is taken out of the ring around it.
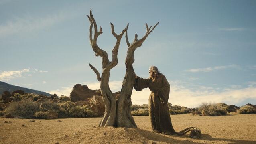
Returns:
[[[169,81],[171,85],[169,102],[173,105],[181,105],[186,107],[197,107],[202,102],[215,102],[215,103],[227,103],[236,105],[240,101],[245,99],[256,99],[256,87],[240,88],[233,87],[234,89],[219,90],[213,87],[198,87],[197,90],[188,89],[177,81]],[[75,85],[75,84],[74,84]],[[84,82],[83,85],[87,85],[89,89],[100,89],[99,82]],[[122,87],[122,81],[110,81],[110,89],[112,92],[120,91]],[[72,90],[70,87],[61,87],[60,89],[47,91],[47,93],[56,93],[57,95],[69,96]],[[232,86],[231,86],[232,87]],[[149,89],[143,89],[142,91],[132,91],[132,103],[133,104],[148,104],[148,97],[150,95]]]

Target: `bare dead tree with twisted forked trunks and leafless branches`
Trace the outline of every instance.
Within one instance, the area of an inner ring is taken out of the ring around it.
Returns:
[[[87,15],[87,17],[90,21],[89,39],[92,49],[95,52],[95,56],[102,57],[102,75],[100,75],[95,67],[89,64],[91,69],[93,69],[93,71],[96,73],[98,81],[100,81],[100,91],[102,94],[103,102],[105,104],[105,113],[102,120],[100,121],[99,126],[137,128],[130,111],[131,95],[135,80],[135,73],[132,67],[132,64],[134,63],[134,51],[142,45],[142,43],[146,40],[146,37],[148,37],[148,35],[154,30],[159,22],[153,28],[152,26],[148,28],[148,25],[146,24],[146,34],[144,35],[144,37],[138,39],[138,35],[135,34],[134,41],[131,44],[128,41],[127,35],[129,24],[127,24],[126,28],[122,30],[122,32],[118,35],[114,32],[114,25],[110,23],[112,34],[116,38],[116,45],[112,50],[112,61],[109,61],[108,53],[100,49],[100,47],[98,47],[97,45],[97,38],[100,34],[102,34],[102,28],[100,27],[100,31],[98,31],[97,24],[91,13],[91,10],[90,16]],[[94,36],[92,37],[93,27]],[[120,97],[116,99],[116,97],[114,97],[114,95],[112,94],[108,83],[110,77],[110,70],[118,63],[117,54],[120,41],[124,32],[126,32],[125,37],[126,43],[128,45],[128,51],[125,60],[126,74],[122,83]]]

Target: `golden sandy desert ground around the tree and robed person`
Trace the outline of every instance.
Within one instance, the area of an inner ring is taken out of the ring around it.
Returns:
[[[171,115],[176,131],[195,126],[202,138],[155,134],[148,116],[134,116],[137,129],[98,128],[101,118],[62,118],[35,120],[0,118],[1,144],[256,144],[256,114],[227,116]],[[4,121],[8,121],[5,123]],[[9,122],[10,121],[10,122]],[[22,126],[24,124],[24,126]]]

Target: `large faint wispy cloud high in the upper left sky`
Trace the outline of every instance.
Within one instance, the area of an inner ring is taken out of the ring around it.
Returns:
[[[57,14],[41,17],[24,16],[22,18],[15,18],[5,24],[0,25],[0,37],[8,35],[19,34],[24,32],[33,32],[42,28],[52,26],[67,18],[68,14],[59,12]]]

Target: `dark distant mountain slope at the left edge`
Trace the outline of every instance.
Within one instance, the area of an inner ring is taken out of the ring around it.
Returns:
[[[10,85],[8,83],[0,81],[0,95],[4,91],[9,91],[10,93],[12,93],[12,91],[16,91],[16,90],[22,90],[22,91],[25,91],[25,93],[35,93],[35,94],[39,94],[39,95],[42,94],[42,95],[46,95],[46,96],[51,96],[50,93],[45,93],[43,91],[37,91],[37,90],[33,90],[33,89]]]

